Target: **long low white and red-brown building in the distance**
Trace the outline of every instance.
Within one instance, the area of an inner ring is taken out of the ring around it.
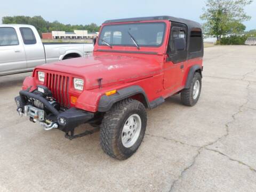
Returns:
[[[92,39],[98,37],[99,32],[89,33],[87,30],[74,30],[74,32],[52,31],[42,33],[43,39]]]

